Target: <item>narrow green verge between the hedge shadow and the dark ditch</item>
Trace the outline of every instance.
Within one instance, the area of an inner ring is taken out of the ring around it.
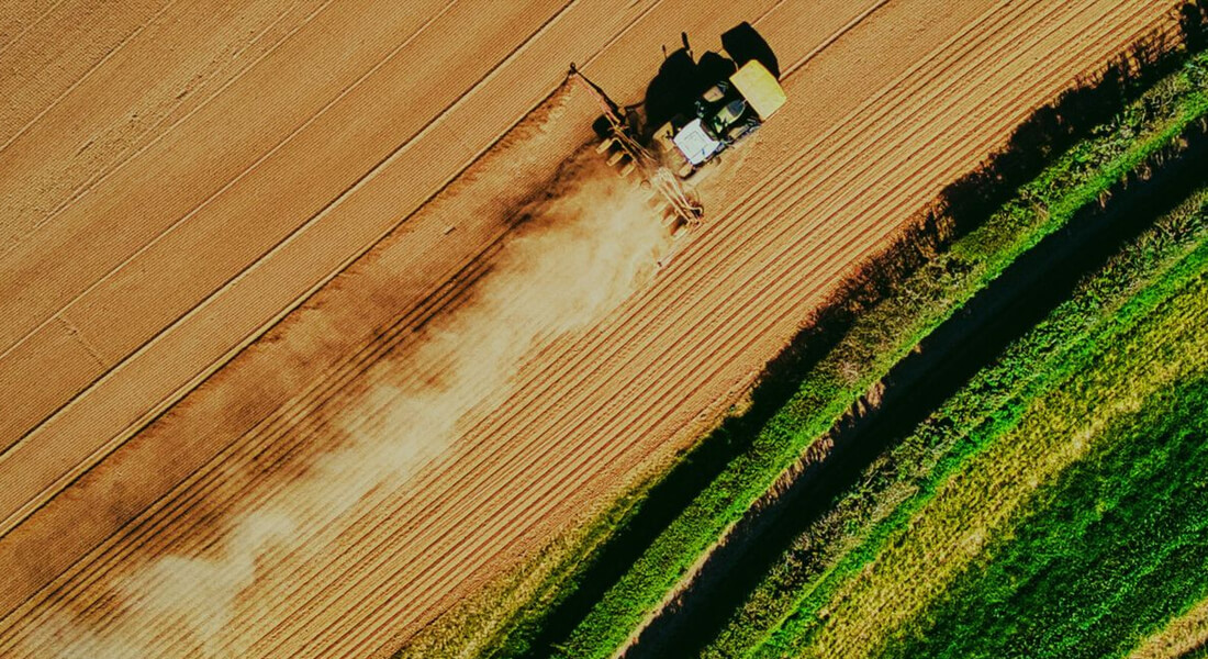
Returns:
[[[661,533],[563,643],[565,655],[606,657],[625,642],[725,528],[738,520],[873,382],[1021,254],[1096,202],[1123,174],[1169,146],[1208,111],[1204,57],[1061,156],[985,226],[958,239],[866,313],[805,375],[800,392]]]

